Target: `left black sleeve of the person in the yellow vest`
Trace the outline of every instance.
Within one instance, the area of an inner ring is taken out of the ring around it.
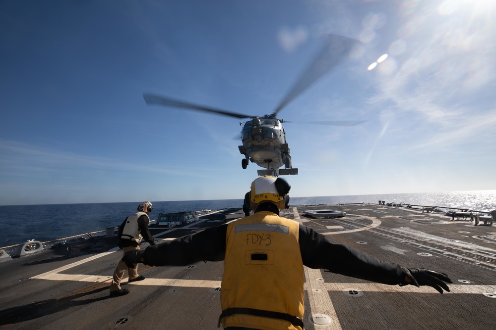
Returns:
[[[195,235],[148,246],[144,264],[184,266],[197,261],[222,261],[226,253],[227,225],[211,227]]]

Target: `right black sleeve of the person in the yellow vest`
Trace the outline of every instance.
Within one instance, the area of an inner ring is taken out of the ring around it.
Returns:
[[[334,243],[307,226],[300,225],[299,240],[303,264],[307,267],[384,284],[400,284],[405,280],[405,272],[399,265]]]

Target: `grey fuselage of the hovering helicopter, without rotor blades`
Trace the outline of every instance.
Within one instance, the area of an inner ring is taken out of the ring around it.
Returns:
[[[243,168],[248,165],[248,160],[273,171],[283,165],[285,168],[292,168],[286,132],[281,122],[283,121],[268,115],[254,117],[245,123],[241,131],[243,145],[238,146],[245,155]]]

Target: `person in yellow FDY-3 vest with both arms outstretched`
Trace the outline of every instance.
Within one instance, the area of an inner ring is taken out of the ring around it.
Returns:
[[[332,242],[298,222],[279,216],[287,208],[288,183],[262,176],[251,184],[254,214],[144,251],[124,261],[150,266],[224,261],[219,323],[225,329],[303,330],[303,266],[384,284],[430,285],[449,291],[446,274],[407,269]],[[180,250],[181,253],[172,253]]]

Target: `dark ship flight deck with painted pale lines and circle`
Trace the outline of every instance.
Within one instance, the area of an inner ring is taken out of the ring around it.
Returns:
[[[496,228],[397,206],[291,205],[281,216],[402,267],[447,273],[451,291],[378,284],[305,267],[305,329],[496,329]],[[304,213],[329,209],[345,216]],[[156,240],[168,240],[241,217],[241,208],[225,209],[184,227],[150,229]],[[95,239],[107,247],[104,252],[70,255],[49,249],[0,263],[0,328],[219,329],[222,262],[140,264],[138,273],[146,279],[124,279],[121,285],[130,293],[111,298],[108,287],[122,250],[115,237]]]

